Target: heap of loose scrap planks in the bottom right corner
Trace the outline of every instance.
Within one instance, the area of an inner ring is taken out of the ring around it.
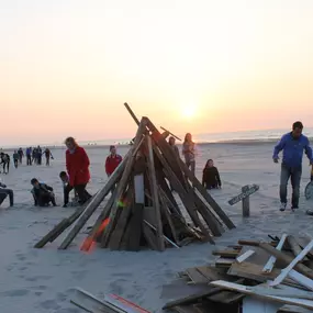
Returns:
[[[215,250],[214,264],[179,276],[197,292],[168,302],[179,313],[313,312],[313,238],[282,234]],[[195,287],[194,287],[195,288]],[[199,290],[200,288],[200,290]]]

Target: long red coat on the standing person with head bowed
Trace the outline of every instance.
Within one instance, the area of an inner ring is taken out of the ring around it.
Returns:
[[[66,168],[70,186],[89,182],[89,158],[85,148],[78,146],[72,154],[69,150],[66,152]]]

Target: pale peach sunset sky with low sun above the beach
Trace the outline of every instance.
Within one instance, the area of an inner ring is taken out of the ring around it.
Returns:
[[[0,145],[313,126],[312,0],[0,0]]]

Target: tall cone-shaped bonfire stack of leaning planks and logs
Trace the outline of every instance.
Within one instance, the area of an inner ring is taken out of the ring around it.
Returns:
[[[87,206],[56,225],[36,248],[52,243],[76,222],[59,246],[66,249],[110,192],[81,246],[83,250],[94,243],[113,250],[164,250],[194,239],[214,244],[213,237],[221,236],[225,226],[235,227],[168,144],[169,132],[160,133],[148,118],[139,122],[125,107],[138,125],[130,152]]]

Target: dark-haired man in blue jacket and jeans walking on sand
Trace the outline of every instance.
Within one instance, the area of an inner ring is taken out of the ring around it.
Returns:
[[[275,146],[272,159],[278,163],[278,154],[282,150],[281,175],[280,175],[280,211],[287,206],[287,185],[291,178],[292,200],[291,209],[299,208],[300,181],[302,174],[303,150],[305,152],[310,164],[313,165],[312,148],[306,136],[302,134],[303,124],[294,122],[292,132],[284,134],[280,142]]]

